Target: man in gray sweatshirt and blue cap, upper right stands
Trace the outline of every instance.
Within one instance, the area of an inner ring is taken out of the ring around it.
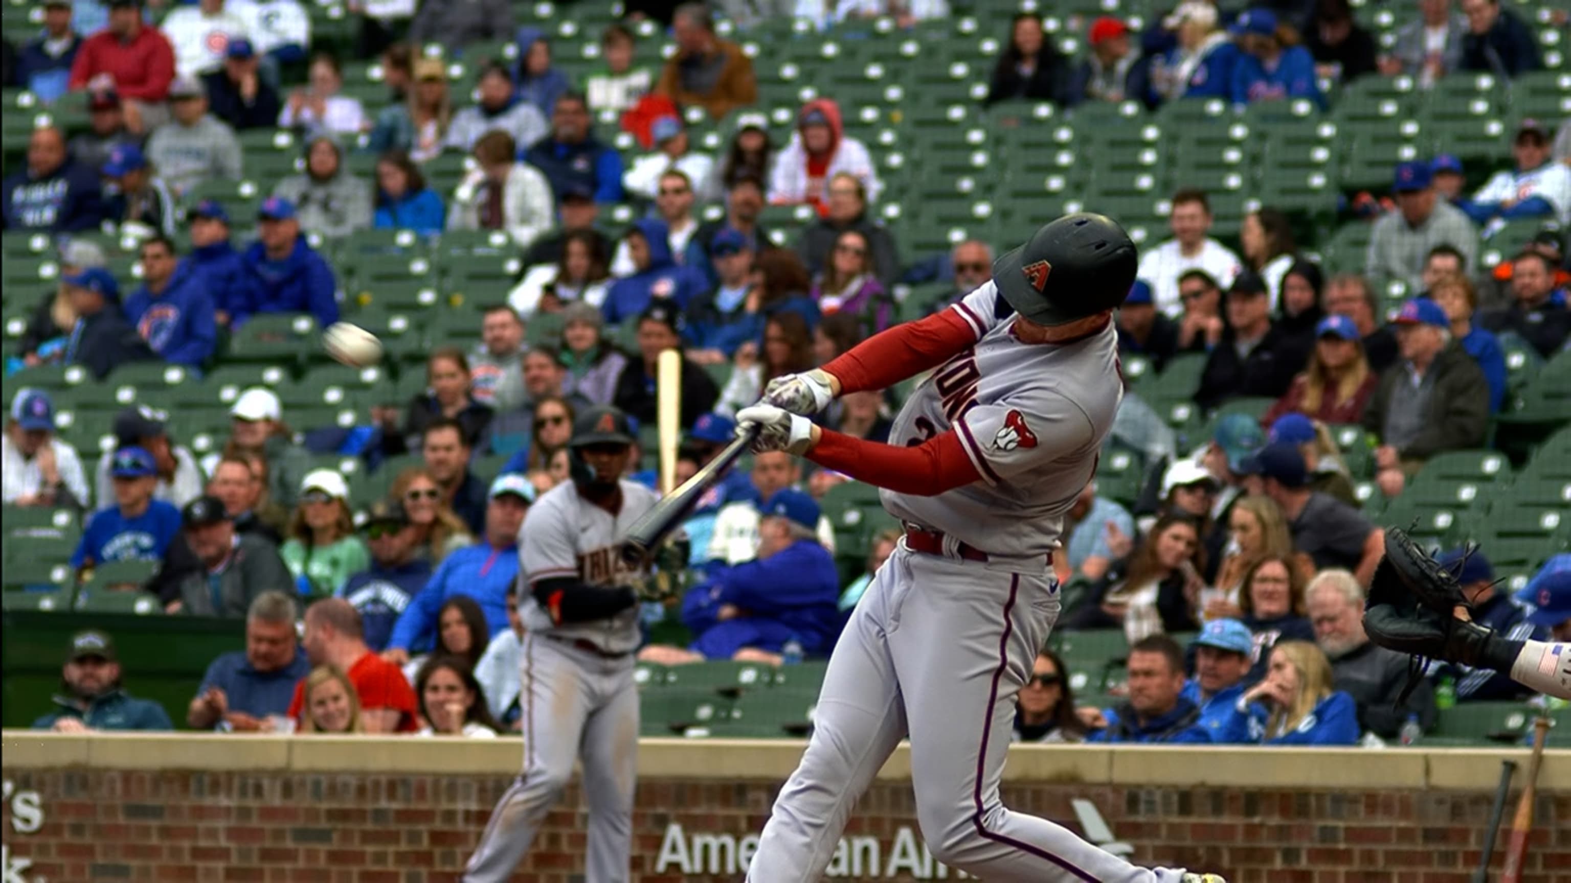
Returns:
[[[1478,229],[1461,209],[1436,193],[1430,163],[1400,163],[1392,192],[1398,211],[1381,215],[1370,233],[1364,261],[1370,283],[1400,281],[1409,292],[1423,291],[1423,264],[1437,245],[1450,245],[1463,255],[1464,266],[1474,264]]]

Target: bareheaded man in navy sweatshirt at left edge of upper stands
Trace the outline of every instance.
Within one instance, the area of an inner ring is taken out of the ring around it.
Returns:
[[[66,233],[97,229],[104,220],[97,171],[71,160],[66,137],[53,126],[33,129],[27,168],[6,178],[0,189],[5,229]]]

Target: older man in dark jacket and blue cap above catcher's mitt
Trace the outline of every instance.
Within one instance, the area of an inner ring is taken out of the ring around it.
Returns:
[[[1401,358],[1386,369],[1364,410],[1364,427],[1379,437],[1376,482],[1397,496],[1423,460],[1444,451],[1483,446],[1489,383],[1439,303],[1419,297],[1392,321]]]

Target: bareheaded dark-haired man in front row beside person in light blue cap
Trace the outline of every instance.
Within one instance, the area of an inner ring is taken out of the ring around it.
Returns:
[[[1183,649],[1167,635],[1148,635],[1130,647],[1130,699],[1112,709],[1090,709],[1082,720],[1095,729],[1086,742],[1210,745],[1200,707],[1183,698]]]

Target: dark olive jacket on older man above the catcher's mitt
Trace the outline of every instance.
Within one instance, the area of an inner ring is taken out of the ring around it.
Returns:
[[[1489,427],[1489,383],[1485,382],[1478,363],[1459,343],[1447,344],[1434,357],[1430,371],[1434,374],[1430,412],[1425,415],[1419,438],[1397,451],[1404,460],[1425,460],[1441,451],[1478,448]],[[1392,398],[1406,393],[1408,388],[1406,361],[1398,361],[1381,374],[1379,387],[1364,409],[1364,427],[1375,434],[1384,432]]]

